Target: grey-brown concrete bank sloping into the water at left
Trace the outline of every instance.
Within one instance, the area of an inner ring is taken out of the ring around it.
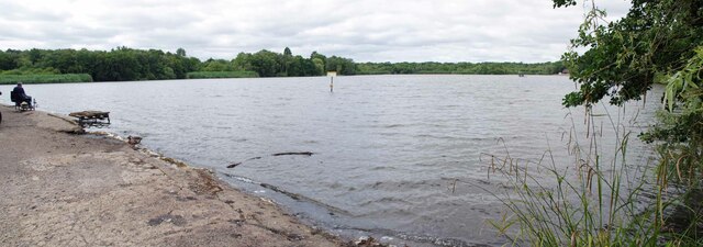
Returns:
[[[354,246],[269,200],[72,120],[0,104],[0,245]]]

